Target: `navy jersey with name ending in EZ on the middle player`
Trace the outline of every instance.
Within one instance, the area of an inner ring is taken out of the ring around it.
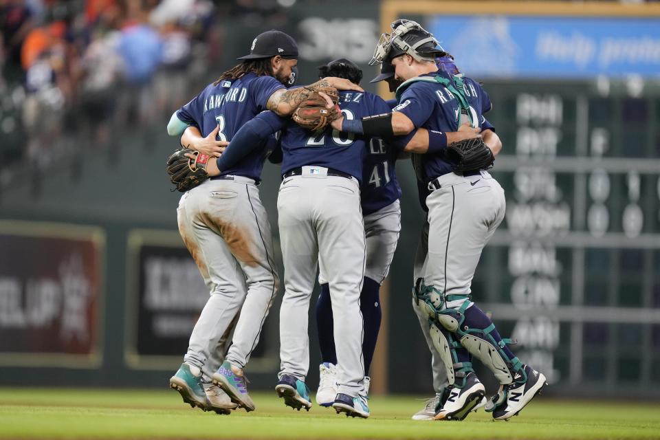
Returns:
[[[390,111],[380,96],[362,91],[340,91],[338,104],[347,119]],[[340,133],[331,126],[324,131],[312,132],[295,122],[288,122],[280,137],[282,173],[305,165],[317,165],[347,173],[362,182],[362,162],[368,152],[368,142],[369,137]]]

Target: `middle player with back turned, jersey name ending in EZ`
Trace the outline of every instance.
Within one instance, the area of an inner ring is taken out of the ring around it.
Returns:
[[[337,65],[337,72],[342,69],[339,65],[347,71],[357,69],[347,60],[333,64]],[[390,111],[382,98],[362,89],[341,92],[338,104],[342,114],[350,119]],[[365,239],[358,182],[363,177],[362,159],[369,151],[370,139],[341,135],[330,129],[309,131],[288,119],[263,112],[234,135],[224,154],[234,147],[242,150],[263,142],[276,131],[281,131],[283,152],[278,213],[285,265],[285,296],[280,314],[282,371],[276,391],[288,406],[311,408],[305,384],[309,369],[307,313],[318,262],[322,277],[329,282],[333,335],[341,366],[331,405],[338,412],[366,418],[369,406],[364,393],[359,305]],[[463,139],[476,136],[476,131],[448,135]],[[413,140],[406,148],[426,151],[422,142]],[[386,180],[382,177],[382,183]],[[373,276],[384,278],[384,274]]]

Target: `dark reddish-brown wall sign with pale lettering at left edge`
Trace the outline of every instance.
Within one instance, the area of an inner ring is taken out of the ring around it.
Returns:
[[[0,221],[0,364],[100,364],[103,235]]]

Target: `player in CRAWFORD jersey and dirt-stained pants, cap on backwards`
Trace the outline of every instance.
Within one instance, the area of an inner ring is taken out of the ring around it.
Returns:
[[[182,144],[192,146],[204,144],[206,137],[207,153],[218,155],[221,148],[213,141],[209,145],[209,135],[215,141],[231,140],[239,127],[265,109],[288,115],[318,87],[349,84],[325,78],[307,88],[287,91],[285,84],[294,73],[297,58],[298,47],[291,36],[276,30],[260,34],[252,42],[250,54],[239,58],[239,65],[173,114],[168,133],[183,132]],[[229,395],[233,407],[255,408],[243,369],[259,342],[278,289],[270,224],[257,188],[267,151],[262,143],[250,146],[239,159],[236,153],[241,152],[229,149],[217,162],[211,160],[209,164],[221,173],[185,192],[177,210],[181,238],[210,297],[170,386],[192,406],[217,412],[227,412],[231,406],[225,399],[212,397],[219,393],[209,386],[211,379]],[[215,371],[212,356],[239,310],[232,346]]]

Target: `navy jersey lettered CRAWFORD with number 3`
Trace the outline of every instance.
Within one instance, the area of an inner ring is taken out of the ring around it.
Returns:
[[[177,118],[197,126],[203,136],[219,127],[217,140],[231,141],[241,126],[265,110],[268,98],[284,85],[272,76],[246,74],[234,80],[210,84],[177,111]],[[221,175],[261,179],[265,148],[256,148]]]

